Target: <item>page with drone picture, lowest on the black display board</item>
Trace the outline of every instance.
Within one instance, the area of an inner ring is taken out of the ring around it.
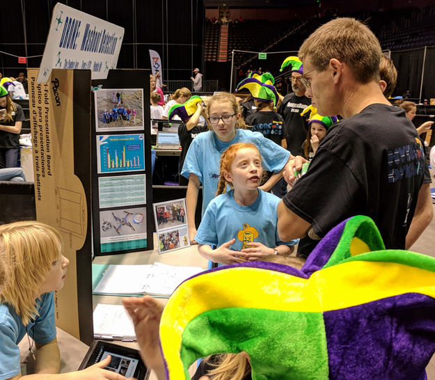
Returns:
[[[124,207],[100,211],[102,253],[146,247],[146,207]]]

